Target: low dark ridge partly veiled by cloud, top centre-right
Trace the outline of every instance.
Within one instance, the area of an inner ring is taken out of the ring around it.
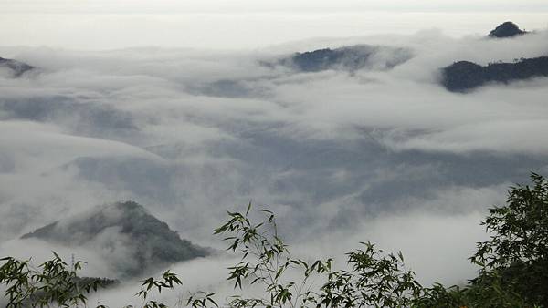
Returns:
[[[411,52],[406,48],[355,45],[295,53],[280,59],[278,64],[303,72],[318,72],[326,69],[353,71],[361,68],[389,69],[406,62],[411,57]]]

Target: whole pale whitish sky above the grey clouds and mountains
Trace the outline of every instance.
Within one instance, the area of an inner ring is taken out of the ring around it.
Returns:
[[[484,34],[512,20],[545,28],[548,4],[528,1],[0,1],[0,46],[114,49],[257,48],[311,37]]]

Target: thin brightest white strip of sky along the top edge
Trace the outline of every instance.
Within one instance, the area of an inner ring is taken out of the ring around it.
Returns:
[[[543,0],[3,0],[5,13],[172,14],[189,12],[333,12],[333,11],[547,11]]]

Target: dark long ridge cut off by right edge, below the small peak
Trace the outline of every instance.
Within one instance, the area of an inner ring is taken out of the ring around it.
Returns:
[[[509,83],[532,77],[548,77],[548,56],[522,58],[516,62],[490,63],[482,67],[458,61],[441,69],[441,84],[452,92],[466,92],[492,82]]]

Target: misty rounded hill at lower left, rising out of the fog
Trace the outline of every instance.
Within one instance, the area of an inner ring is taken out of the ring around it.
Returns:
[[[48,224],[21,238],[92,249],[100,253],[121,278],[209,254],[207,249],[182,240],[165,222],[132,201],[100,206],[78,217]]]

